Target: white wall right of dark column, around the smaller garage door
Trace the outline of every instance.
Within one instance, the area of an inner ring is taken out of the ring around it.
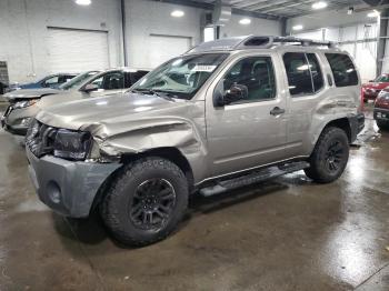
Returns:
[[[182,10],[182,18],[172,18],[171,11]],[[191,38],[191,44],[202,41],[201,18],[206,10],[200,8],[184,7],[166,2],[147,0],[126,0],[126,30],[127,54],[130,67],[150,68],[152,66],[151,34]],[[221,27],[220,36],[235,37],[246,34],[277,34],[281,33],[279,21],[250,18],[251,24],[242,26],[239,20],[246,18],[232,14],[231,20]],[[160,48],[163,53],[164,48]],[[183,51],[182,51],[183,52]]]

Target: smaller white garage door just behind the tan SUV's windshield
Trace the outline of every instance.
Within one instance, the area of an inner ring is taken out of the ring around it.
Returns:
[[[149,68],[182,54],[191,47],[191,38],[151,34],[149,44]]]

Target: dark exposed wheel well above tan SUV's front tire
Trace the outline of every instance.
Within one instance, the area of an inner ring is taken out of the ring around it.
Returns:
[[[158,148],[137,154],[123,154],[121,162],[129,163],[138,159],[151,155],[160,157],[176,163],[187,177],[189,190],[192,190],[194,183],[192,168],[190,167],[187,158],[183,157],[183,154],[177,148]]]

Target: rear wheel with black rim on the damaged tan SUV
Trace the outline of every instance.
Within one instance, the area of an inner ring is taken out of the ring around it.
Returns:
[[[346,169],[349,150],[349,140],[343,130],[326,128],[309,158],[310,167],[305,170],[306,174],[318,183],[337,180]]]

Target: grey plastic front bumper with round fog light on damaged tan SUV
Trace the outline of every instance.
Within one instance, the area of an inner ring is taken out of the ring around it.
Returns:
[[[56,212],[88,217],[96,194],[120,163],[73,162],[52,155],[38,159],[26,147],[29,174],[39,199]]]

